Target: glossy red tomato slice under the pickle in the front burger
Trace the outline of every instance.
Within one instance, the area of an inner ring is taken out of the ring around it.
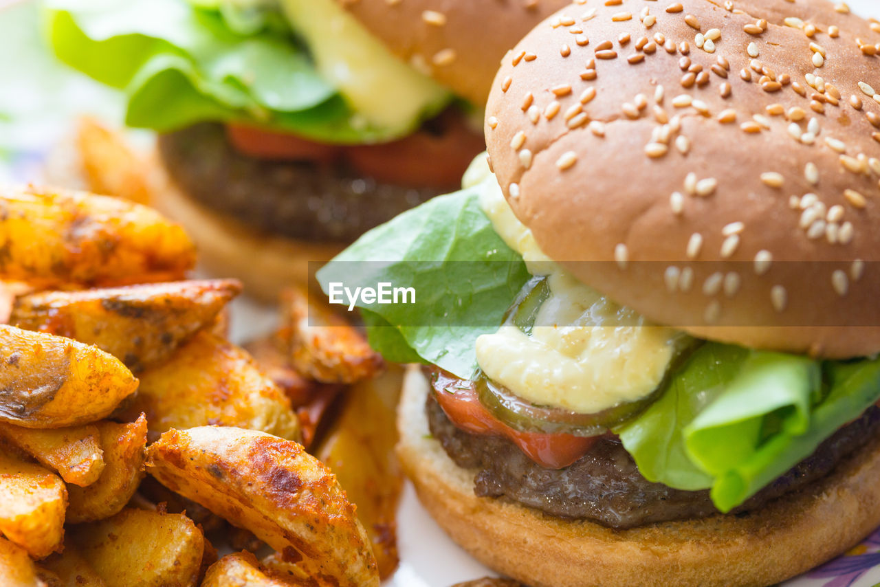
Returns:
[[[529,459],[548,469],[561,469],[571,465],[583,457],[599,439],[512,429],[495,418],[480,403],[473,381],[456,378],[444,371],[432,371],[431,386],[437,403],[458,428],[472,434],[505,437],[516,444]]]

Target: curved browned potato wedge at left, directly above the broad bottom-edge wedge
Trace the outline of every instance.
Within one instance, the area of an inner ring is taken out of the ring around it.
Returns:
[[[71,524],[113,516],[135,495],[143,479],[146,418],[141,415],[128,424],[99,422],[96,426],[104,447],[104,472],[88,487],[68,486],[67,519]]]

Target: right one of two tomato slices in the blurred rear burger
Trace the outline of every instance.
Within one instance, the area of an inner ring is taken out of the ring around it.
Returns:
[[[378,181],[453,190],[483,150],[483,136],[468,128],[462,114],[447,111],[399,141],[348,147],[345,158],[356,171]]]

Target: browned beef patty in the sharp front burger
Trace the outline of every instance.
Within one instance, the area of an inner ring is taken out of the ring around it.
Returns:
[[[425,407],[431,434],[458,466],[478,469],[474,493],[510,500],[560,517],[590,519],[626,529],[718,513],[708,490],[682,491],[642,477],[620,440],[602,438],[573,465],[546,469],[506,438],[470,434],[446,417],[429,393]],[[880,409],[838,430],[807,459],[753,495],[732,514],[744,514],[830,473],[850,453],[880,433]]]

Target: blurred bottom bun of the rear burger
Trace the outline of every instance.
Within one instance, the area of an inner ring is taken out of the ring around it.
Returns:
[[[252,297],[275,303],[285,287],[317,287],[315,271],[345,245],[310,243],[253,231],[187,197],[161,165],[151,165],[150,205],[183,224],[210,274],[238,277]]]

